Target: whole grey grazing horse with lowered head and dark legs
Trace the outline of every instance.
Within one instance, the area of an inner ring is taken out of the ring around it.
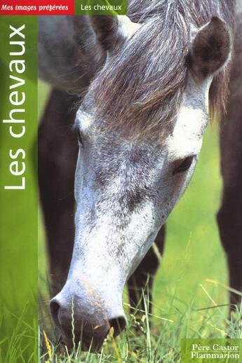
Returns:
[[[234,14],[233,0],[133,0],[129,16],[40,17],[39,72],[54,90],[39,129],[39,185],[51,315],[66,343],[72,313],[76,343],[98,350],[110,327],[115,336],[125,327],[126,282],[133,305],[148,275],[151,293],[159,265],[152,243],[162,252],[165,221],[190,182],[209,117],[224,117],[233,60],[218,222],[231,287],[241,289]]]

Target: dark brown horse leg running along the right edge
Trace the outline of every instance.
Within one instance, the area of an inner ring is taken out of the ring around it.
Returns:
[[[227,118],[221,125],[222,205],[217,214],[220,238],[227,254],[229,286],[242,292],[242,18],[238,19]],[[231,303],[241,296],[231,293]],[[234,306],[233,306],[234,307]]]

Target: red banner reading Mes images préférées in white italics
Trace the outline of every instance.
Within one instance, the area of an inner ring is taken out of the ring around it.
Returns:
[[[74,15],[74,0],[0,0],[0,15]]]

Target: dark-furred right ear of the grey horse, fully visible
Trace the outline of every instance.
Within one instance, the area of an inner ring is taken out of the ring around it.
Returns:
[[[199,29],[189,58],[191,71],[200,81],[213,76],[226,64],[231,54],[231,34],[229,27],[214,16],[208,24]]]

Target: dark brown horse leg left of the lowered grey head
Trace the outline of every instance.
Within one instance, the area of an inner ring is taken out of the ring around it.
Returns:
[[[65,283],[74,245],[74,170],[78,153],[72,132],[75,97],[53,90],[39,127],[39,191],[48,240],[51,293]]]

